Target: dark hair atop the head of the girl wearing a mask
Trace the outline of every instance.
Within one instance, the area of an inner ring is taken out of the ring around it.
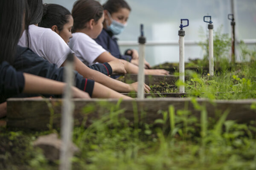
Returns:
[[[118,12],[121,8],[126,8],[131,11],[131,7],[128,5],[128,3],[125,2],[125,0],[108,0],[103,5],[103,8],[104,10],[107,10],[110,14]]]

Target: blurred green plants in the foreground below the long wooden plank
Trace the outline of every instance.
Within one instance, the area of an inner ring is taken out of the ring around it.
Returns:
[[[95,119],[87,128],[84,128],[85,122],[74,128],[73,142],[81,152],[73,157],[73,169],[255,170],[256,121],[248,125],[226,121],[228,110],[212,119],[207,116],[204,105],[195,99],[192,103],[201,112],[200,119],[191,115],[187,106],[175,110],[170,105],[168,112],[159,111],[163,118],[151,125],[125,119],[119,103],[105,105],[101,119]],[[84,108],[84,111],[92,110],[91,106]],[[44,133],[49,132],[1,129],[1,139],[3,136],[8,139],[4,140],[6,145],[2,141],[2,146],[9,146],[9,142],[15,145],[5,153],[5,169],[57,169],[58,161],[49,163],[40,150],[32,148],[32,141]]]

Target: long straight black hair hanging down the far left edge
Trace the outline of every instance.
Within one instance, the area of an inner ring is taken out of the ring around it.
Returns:
[[[27,4],[25,0],[0,0],[0,7],[0,63],[12,65],[23,27],[28,26]]]

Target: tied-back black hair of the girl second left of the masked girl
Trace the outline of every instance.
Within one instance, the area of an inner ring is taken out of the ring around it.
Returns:
[[[68,23],[70,16],[70,11],[63,6],[58,4],[44,4],[43,17],[38,26],[44,28],[52,28],[52,26],[57,26],[58,31],[61,31],[63,26]]]

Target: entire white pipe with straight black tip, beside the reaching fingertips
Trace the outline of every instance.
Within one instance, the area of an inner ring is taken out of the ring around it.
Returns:
[[[144,37],[143,24],[140,25],[140,37],[139,37],[139,74],[138,74],[138,99],[144,99],[144,60],[145,60],[145,42],[146,38]]]

